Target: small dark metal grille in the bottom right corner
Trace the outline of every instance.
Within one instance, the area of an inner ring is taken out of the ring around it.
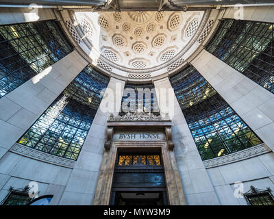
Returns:
[[[259,190],[251,185],[250,190],[244,196],[249,205],[274,205],[274,198],[270,188]]]

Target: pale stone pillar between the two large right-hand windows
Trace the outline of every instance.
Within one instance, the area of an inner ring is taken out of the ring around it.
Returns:
[[[274,94],[204,49],[190,63],[273,151]]]

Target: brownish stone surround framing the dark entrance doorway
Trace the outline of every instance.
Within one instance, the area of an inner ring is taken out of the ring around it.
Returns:
[[[155,148],[162,151],[169,205],[186,205],[175,155],[173,151],[169,150],[166,142],[146,142],[146,144],[144,142],[112,142],[110,150],[104,151],[103,154],[92,205],[109,205],[117,153],[119,150],[131,148],[143,148],[144,151],[147,148]]]

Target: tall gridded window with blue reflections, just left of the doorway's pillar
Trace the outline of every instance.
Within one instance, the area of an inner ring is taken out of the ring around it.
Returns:
[[[108,81],[108,77],[86,66],[18,143],[77,159]]]

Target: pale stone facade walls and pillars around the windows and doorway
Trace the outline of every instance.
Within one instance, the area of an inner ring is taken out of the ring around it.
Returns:
[[[33,18],[24,16],[25,10],[23,9],[1,8],[0,12],[1,25],[34,21]],[[222,9],[222,12],[223,18],[232,18],[235,9]],[[39,9],[39,14],[40,20],[55,19],[53,10]],[[63,15],[66,17],[68,14],[64,12]],[[219,12],[214,17],[217,15],[220,16]],[[273,16],[273,6],[247,7],[244,19],[273,22]],[[116,22],[119,22],[119,16],[115,18]],[[149,27],[149,31],[153,28],[152,26]],[[142,32],[136,31],[136,34],[142,34]],[[210,38],[212,31],[208,30],[207,34],[209,35],[204,36],[204,40]],[[108,88],[114,90],[115,99],[113,100],[107,92],[105,93],[101,102],[102,108],[97,111],[79,158],[73,164],[62,163],[58,158],[55,161],[51,158],[49,158],[51,161],[45,161],[47,157],[32,155],[32,151],[21,151],[21,149],[15,149],[14,146],[16,140],[25,133],[88,62],[93,63],[83,54],[86,51],[77,46],[77,49],[62,60],[0,99],[0,201],[8,194],[10,186],[23,188],[30,181],[36,181],[40,195],[54,195],[50,205],[108,203],[109,193],[103,194],[100,191],[110,189],[109,183],[112,179],[111,171],[116,149],[128,146],[125,142],[110,141],[109,149],[108,147],[108,150],[105,149],[105,140],[112,133],[111,129],[108,130],[108,118],[110,113],[114,116],[119,113],[127,75],[123,73],[119,75],[119,71],[115,74],[110,73],[112,77]],[[109,57],[113,56],[109,52],[105,54]],[[249,190],[250,185],[260,189],[270,187],[274,190],[274,96],[234,68],[201,49],[200,44],[197,50],[190,49],[187,57],[189,60],[186,60],[199,70],[201,75],[264,141],[266,148],[262,151],[258,149],[259,153],[252,153],[249,157],[239,155],[238,158],[227,158],[229,162],[223,162],[221,165],[218,163],[219,160],[212,160],[211,164],[202,162],[174,93],[161,91],[161,88],[172,89],[167,77],[171,72],[166,72],[165,68],[163,75],[155,74],[152,75],[153,77],[149,75],[146,79],[153,79],[160,113],[164,116],[166,112],[169,112],[171,119],[171,129],[166,129],[165,132],[167,142],[147,144],[151,147],[160,147],[164,153],[168,188],[173,186],[169,188],[172,193],[170,203],[173,205],[247,205],[244,198],[234,196],[236,182],[243,182],[244,192]],[[175,63],[171,71],[184,66],[186,60],[176,61],[178,64]],[[136,77],[137,80],[139,78],[141,77]],[[103,111],[106,101],[116,106],[112,112]],[[167,103],[169,107],[166,107]],[[151,124],[157,125],[157,120],[153,121],[155,123]],[[120,123],[125,125],[123,120],[120,120]],[[174,149],[171,151],[173,143]],[[135,146],[144,145],[140,142],[134,144]],[[107,161],[107,157],[112,157],[112,159]],[[107,170],[110,172],[105,173]]]

